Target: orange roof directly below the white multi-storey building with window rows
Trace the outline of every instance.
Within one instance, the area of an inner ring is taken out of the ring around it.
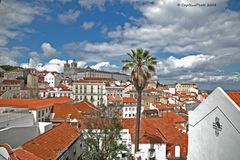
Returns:
[[[72,118],[82,119],[83,114],[95,114],[99,109],[87,101],[81,101],[75,104],[55,104],[53,106],[53,119],[65,120],[67,115],[71,114]]]

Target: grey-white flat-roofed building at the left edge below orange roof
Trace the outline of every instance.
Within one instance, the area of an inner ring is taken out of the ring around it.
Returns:
[[[16,148],[39,134],[39,127],[28,109],[0,107],[0,144]]]

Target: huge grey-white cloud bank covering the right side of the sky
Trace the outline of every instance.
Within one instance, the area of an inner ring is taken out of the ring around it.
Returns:
[[[121,59],[139,47],[157,57],[170,52],[175,57],[158,63],[160,80],[238,81],[237,73],[224,72],[225,67],[240,65],[240,28],[236,27],[240,26],[240,12],[226,9],[228,0],[191,1],[216,3],[216,7],[178,7],[177,3],[189,3],[184,0],[121,2],[134,4],[143,17],[129,17],[132,23],[108,29],[108,42],[72,42],[64,46],[65,50],[95,62]]]

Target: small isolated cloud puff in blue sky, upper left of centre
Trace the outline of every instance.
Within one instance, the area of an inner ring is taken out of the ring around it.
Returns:
[[[60,15],[58,15],[58,19],[60,20],[61,23],[63,24],[68,24],[68,23],[73,23],[77,20],[77,18],[80,15],[79,10],[73,10],[70,9],[67,12],[64,12]]]

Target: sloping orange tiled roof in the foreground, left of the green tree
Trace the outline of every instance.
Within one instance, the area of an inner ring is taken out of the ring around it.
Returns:
[[[64,122],[24,143],[21,147],[42,159],[58,159],[79,135],[78,128]]]

